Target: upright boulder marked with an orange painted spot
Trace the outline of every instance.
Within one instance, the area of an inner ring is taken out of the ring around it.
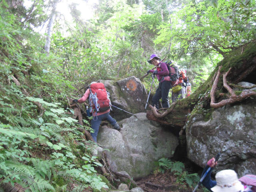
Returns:
[[[98,82],[102,82],[106,90],[110,92],[112,105],[122,109],[112,107],[111,115],[116,120],[130,117],[131,114],[127,112],[132,114],[146,112],[144,107],[148,94],[140,79],[131,76],[117,82],[114,80],[98,80]]]

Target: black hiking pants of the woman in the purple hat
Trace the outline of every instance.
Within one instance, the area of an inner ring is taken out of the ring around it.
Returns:
[[[156,93],[152,97],[152,104],[153,106],[156,105],[156,108],[158,109],[158,104],[160,98],[162,98],[162,106],[163,108],[169,108],[169,99],[168,99],[168,94],[170,91],[170,88],[172,87],[172,84],[170,81],[163,81],[159,82],[159,86],[156,90]]]

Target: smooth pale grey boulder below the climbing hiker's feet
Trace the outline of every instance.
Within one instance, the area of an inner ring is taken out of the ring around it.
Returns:
[[[149,175],[154,161],[172,157],[178,138],[158,122],[148,120],[146,113],[134,114],[119,122],[121,131],[102,126],[98,143],[106,150],[114,171],[126,171],[132,178]]]

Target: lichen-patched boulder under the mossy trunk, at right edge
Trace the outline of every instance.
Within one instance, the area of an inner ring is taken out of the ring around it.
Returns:
[[[256,173],[256,99],[226,105],[210,115],[194,113],[187,124],[190,160],[204,167],[220,152],[216,171],[234,169],[239,176]]]

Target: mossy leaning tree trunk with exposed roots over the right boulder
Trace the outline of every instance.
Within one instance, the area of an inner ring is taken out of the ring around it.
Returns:
[[[256,84],[255,76],[256,42],[251,42],[227,54],[218,63],[208,80],[188,98],[178,100],[164,112],[150,106],[151,110],[147,111],[147,118],[168,125],[170,128],[182,128],[190,112],[204,114],[206,110],[214,110],[226,104],[241,102],[248,97],[255,97],[255,90],[235,93],[231,88],[242,81]]]

